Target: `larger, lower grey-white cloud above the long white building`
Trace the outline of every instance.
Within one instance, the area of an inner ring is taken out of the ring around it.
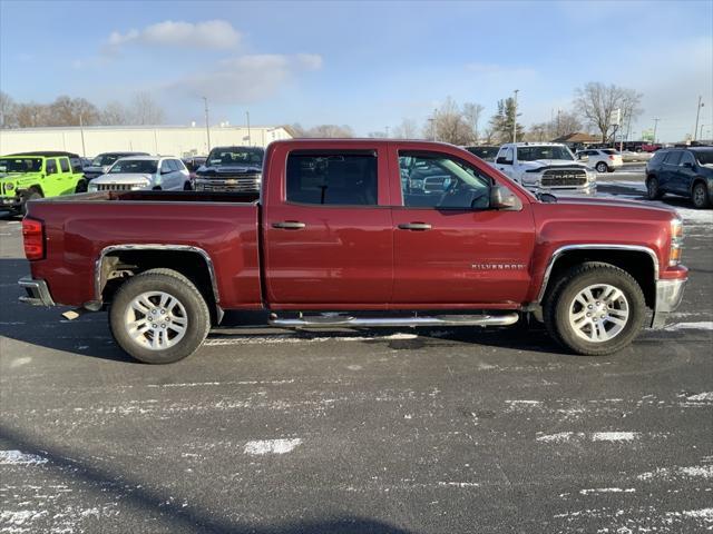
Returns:
[[[322,57],[263,53],[219,61],[205,76],[185,78],[169,86],[192,97],[208,97],[217,103],[245,103],[264,100],[303,71],[322,67]]]

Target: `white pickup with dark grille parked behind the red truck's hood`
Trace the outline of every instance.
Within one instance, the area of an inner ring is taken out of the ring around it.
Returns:
[[[536,194],[595,195],[597,175],[575,161],[565,145],[517,142],[502,145],[495,168]]]

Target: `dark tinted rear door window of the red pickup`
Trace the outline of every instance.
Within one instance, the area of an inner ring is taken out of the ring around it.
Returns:
[[[377,155],[300,154],[287,157],[287,201],[331,206],[375,206]]]

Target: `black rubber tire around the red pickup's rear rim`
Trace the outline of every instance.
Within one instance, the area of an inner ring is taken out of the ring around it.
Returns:
[[[125,316],[134,298],[147,291],[166,293],[185,308],[186,332],[174,346],[147,348],[128,333]],[[205,298],[188,278],[173,269],[152,269],[131,277],[119,287],[109,309],[109,329],[116,343],[139,362],[170,364],[192,355],[201,346],[211,329],[211,313]]]

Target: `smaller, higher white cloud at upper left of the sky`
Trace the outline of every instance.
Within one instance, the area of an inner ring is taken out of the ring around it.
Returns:
[[[141,30],[131,29],[126,33],[114,31],[107,39],[104,50],[116,53],[127,44],[231,49],[240,43],[241,37],[241,33],[224,20],[196,23],[166,20]]]

